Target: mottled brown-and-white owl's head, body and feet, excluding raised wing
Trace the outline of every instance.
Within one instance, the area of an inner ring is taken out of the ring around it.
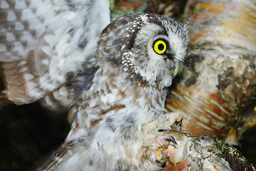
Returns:
[[[157,14],[127,14],[106,26],[96,65],[68,85],[78,87],[70,133],[40,170],[160,170],[155,150],[175,145],[160,130],[181,118],[165,110],[165,98],[188,41],[186,24]]]

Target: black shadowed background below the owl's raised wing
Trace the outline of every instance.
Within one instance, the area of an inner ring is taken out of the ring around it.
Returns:
[[[0,110],[0,170],[34,170],[66,138],[65,113],[39,103],[6,105]]]

